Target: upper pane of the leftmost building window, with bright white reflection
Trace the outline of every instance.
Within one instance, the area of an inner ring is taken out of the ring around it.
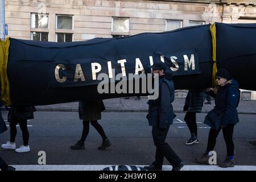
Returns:
[[[48,15],[32,13],[31,28],[48,28]]]

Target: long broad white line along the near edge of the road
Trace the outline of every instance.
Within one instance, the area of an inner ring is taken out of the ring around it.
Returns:
[[[11,165],[17,171],[101,171],[115,165]],[[145,165],[130,165],[144,167]],[[163,171],[170,171],[171,166],[164,165]],[[186,165],[181,171],[256,171],[256,166],[234,166],[221,168],[216,165]]]

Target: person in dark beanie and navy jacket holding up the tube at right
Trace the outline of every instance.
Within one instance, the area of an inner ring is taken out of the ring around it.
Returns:
[[[200,158],[196,158],[197,163],[209,163],[209,152],[213,151],[218,133],[222,129],[224,135],[227,155],[220,167],[234,167],[234,142],[233,131],[236,123],[239,122],[237,106],[240,101],[240,90],[236,80],[230,78],[229,72],[218,69],[216,73],[218,86],[209,90],[209,94],[215,98],[215,107],[209,111],[204,123],[210,126],[207,151]]]

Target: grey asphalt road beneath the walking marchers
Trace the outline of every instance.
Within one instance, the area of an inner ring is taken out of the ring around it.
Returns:
[[[7,112],[3,111],[3,118]],[[207,146],[209,128],[203,122],[205,114],[197,114],[199,144],[186,146],[189,131],[184,121],[184,114],[177,113],[175,123],[170,127],[167,142],[187,165],[195,156],[202,154]],[[97,150],[101,137],[90,125],[90,132],[85,142],[85,150],[71,150],[81,136],[82,122],[76,112],[37,111],[35,119],[28,121],[31,152],[18,154],[13,150],[0,149],[0,156],[12,165],[38,164],[38,152],[46,152],[47,164],[83,164],[83,165],[145,165],[154,160],[155,146],[148,126],[146,113],[102,113],[101,125],[109,137],[112,146],[105,151]],[[249,140],[256,139],[256,115],[241,114],[240,123],[235,127],[236,165],[256,166],[256,147]],[[9,140],[9,131],[0,135],[0,143]],[[18,127],[16,146],[22,144],[21,131]],[[215,151],[217,161],[225,158],[225,142],[220,133]],[[164,164],[168,164],[167,161]]]

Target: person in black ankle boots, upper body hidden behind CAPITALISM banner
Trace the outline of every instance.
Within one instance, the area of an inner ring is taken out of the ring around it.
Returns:
[[[84,149],[84,142],[89,134],[90,123],[98,131],[102,137],[102,144],[98,147],[98,150],[105,150],[106,147],[110,147],[111,143],[106,137],[106,134],[102,126],[98,123],[98,119],[101,119],[101,111],[105,110],[105,106],[102,100],[98,101],[80,101],[79,102],[79,118],[82,119],[82,137],[81,139],[71,146],[72,150]]]

